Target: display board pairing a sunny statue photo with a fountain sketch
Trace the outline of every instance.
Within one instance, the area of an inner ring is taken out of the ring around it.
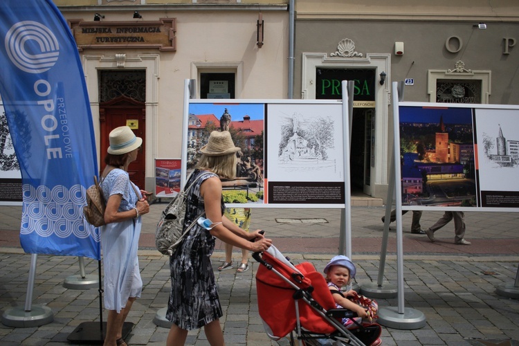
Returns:
[[[342,103],[329,100],[190,100],[189,176],[212,131],[237,147],[236,178],[222,181],[230,206],[344,206]]]

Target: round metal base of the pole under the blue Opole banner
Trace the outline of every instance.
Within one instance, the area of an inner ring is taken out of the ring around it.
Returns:
[[[53,320],[51,308],[39,305],[33,305],[30,311],[25,311],[24,307],[11,307],[2,313],[2,324],[8,327],[39,327]]]

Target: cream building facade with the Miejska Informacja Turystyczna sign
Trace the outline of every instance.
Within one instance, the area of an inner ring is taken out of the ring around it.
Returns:
[[[53,2],[78,44],[100,168],[109,131],[129,125],[143,138],[129,173],[150,191],[154,159],[181,157],[186,80],[192,98],[286,98],[288,1]]]

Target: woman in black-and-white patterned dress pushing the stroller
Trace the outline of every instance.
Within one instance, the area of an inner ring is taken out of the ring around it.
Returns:
[[[271,239],[260,235],[260,230],[246,233],[223,216],[225,205],[220,178],[235,178],[238,150],[228,131],[213,131],[208,144],[200,150],[202,156],[186,183],[189,186],[196,181],[189,192],[184,227],[203,211],[212,227],[194,226],[170,257],[172,290],[166,318],[173,325],[167,336],[168,346],[183,345],[188,331],[201,327],[204,327],[210,345],[224,345],[219,322],[222,311],[210,260],[215,237],[253,252],[265,251],[272,244]]]

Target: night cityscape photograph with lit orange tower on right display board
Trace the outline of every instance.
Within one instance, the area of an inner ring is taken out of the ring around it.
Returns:
[[[471,108],[399,107],[403,206],[476,207]]]

